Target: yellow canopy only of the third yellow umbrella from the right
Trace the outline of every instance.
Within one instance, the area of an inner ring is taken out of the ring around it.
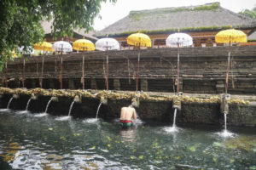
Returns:
[[[90,40],[79,39],[73,42],[73,49],[79,51],[94,51],[95,46]]]

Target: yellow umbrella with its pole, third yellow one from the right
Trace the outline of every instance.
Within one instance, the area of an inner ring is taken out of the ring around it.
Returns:
[[[95,45],[93,42],[90,42],[90,40],[86,39],[79,39],[73,42],[73,49],[79,50],[79,51],[94,51]],[[84,55],[83,55],[83,65],[82,65],[82,77],[81,82],[83,83],[83,89],[84,89]]]

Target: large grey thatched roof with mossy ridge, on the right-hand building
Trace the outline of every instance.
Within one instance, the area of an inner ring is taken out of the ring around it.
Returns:
[[[125,36],[132,32],[146,33],[177,31],[208,31],[230,28],[256,28],[256,21],[236,14],[219,3],[207,3],[201,6],[180,8],[155,8],[131,11],[125,18],[113,23],[96,37]]]

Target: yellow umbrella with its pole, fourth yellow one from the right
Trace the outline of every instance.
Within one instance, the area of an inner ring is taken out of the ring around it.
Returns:
[[[54,51],[52,48],[52,44],[49,42],[38,42],[34,44],[34,49],[42,50],[42,51]],[[44,55],[42,60],[42,71],[41,77],[39,78],[40,88],[43,88],[43,75],[44,75]]]

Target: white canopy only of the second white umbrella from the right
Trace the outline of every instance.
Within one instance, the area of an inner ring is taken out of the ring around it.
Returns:
[[[98,41],[96,41],[95,46],[96,46],[96,49],[100,51],[106,51],[107,49],[108,50],[120,49],[119,42],[110,37],[104,37],[99,39]]]

